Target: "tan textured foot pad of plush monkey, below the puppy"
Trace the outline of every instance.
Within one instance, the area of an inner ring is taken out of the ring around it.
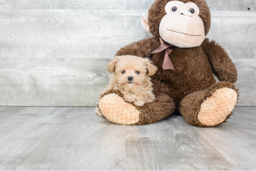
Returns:
[[[107,94],[99,101],[102,115],[118,124],[130,125],[139,122],[139,111],[116,94]]]

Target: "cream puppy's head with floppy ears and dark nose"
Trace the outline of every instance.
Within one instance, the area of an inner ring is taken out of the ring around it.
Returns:
[[[145,78],[154,75],[157,70],[147,58],[137,56],[116,56],[112,66],[110,65],[111,63],[107,66],[108,71],[116,75],[119,85],[125,90],[133,90],[141,86]]]

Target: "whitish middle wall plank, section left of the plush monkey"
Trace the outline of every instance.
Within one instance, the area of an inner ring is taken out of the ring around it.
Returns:
[[[0,57],[113,58],[151,37],[142,10],[13,10],[0,13]]]

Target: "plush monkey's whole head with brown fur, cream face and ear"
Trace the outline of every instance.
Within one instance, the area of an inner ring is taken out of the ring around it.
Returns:
[[[150,16],[142,13],[142,26],[179,48],[198,47],[209,31],[210,12],[205,0],[196,1],[200,8],[192,1],[195,0],[156,0],[149,10]]]

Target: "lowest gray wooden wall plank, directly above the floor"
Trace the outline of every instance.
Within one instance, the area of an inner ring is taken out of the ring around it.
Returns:
[[[2,58],[0,106],[95,106],[109,59]],[[239,106],[256,105],[256,59],[234,59]]]

